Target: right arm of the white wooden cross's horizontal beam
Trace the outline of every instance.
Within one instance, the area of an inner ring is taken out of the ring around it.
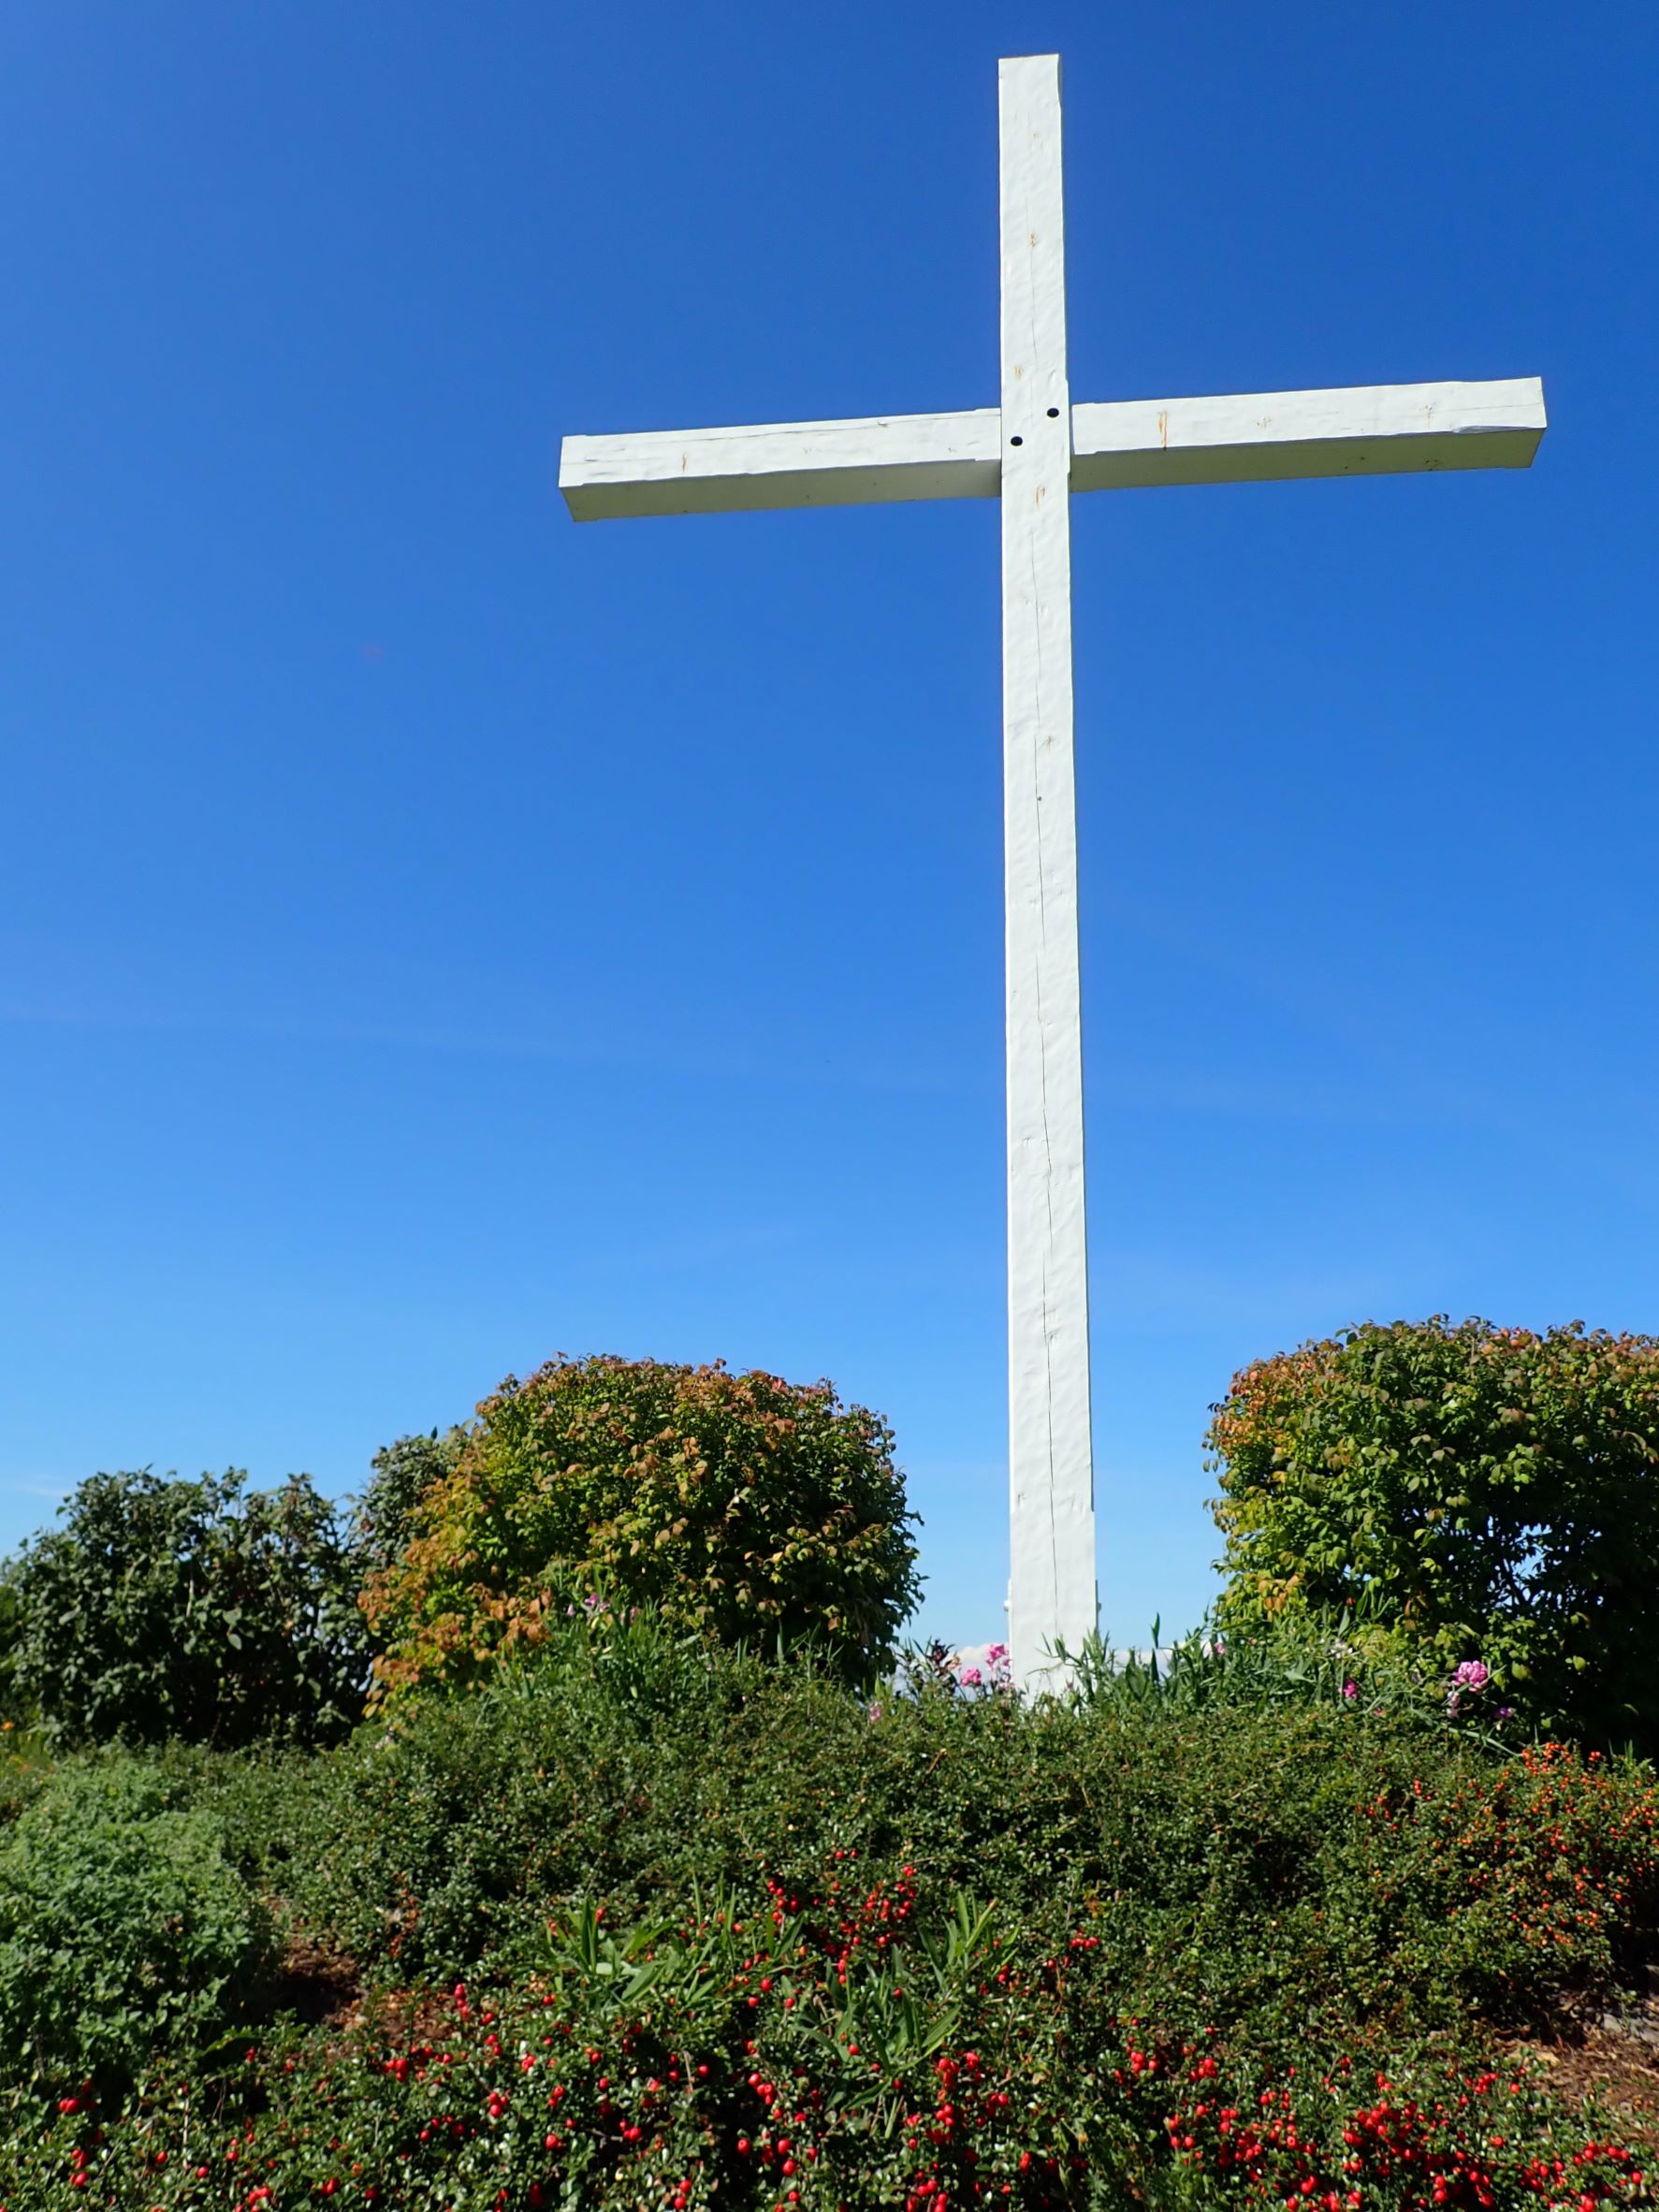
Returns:
[[[1354,385],[1073,409],[1073,491],[1259,484],[1283,476],[1524,469],[1544,436],[1544,385]]]

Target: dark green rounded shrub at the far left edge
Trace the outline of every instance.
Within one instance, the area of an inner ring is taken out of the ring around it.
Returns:
[[[55,1743],[343,1734],[363,1708],[356,1575],[305,1475],[91,1475],[15,1564],[15,1679]]]

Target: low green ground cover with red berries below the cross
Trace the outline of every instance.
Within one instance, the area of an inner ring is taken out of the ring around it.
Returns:
[[[1646,1973],[1650,1770],[1263,1679],[639,1621],[327,1752],[15,1756],[0,2205],[1646,2201],[1528,2053]]]

